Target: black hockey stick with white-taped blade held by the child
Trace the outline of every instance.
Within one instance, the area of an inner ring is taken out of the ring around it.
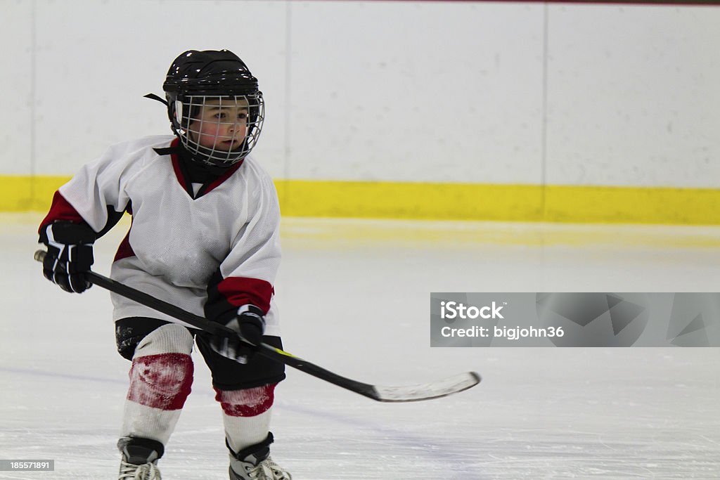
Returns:
[[[37,250],[35,252],[35,260],[42,262],[45,259],[46,253],[47,252],[43,250]],[[210,333],[211,335],[238,335],[237,332],[230,330],[224,325],[220,325],[217,322],[210,322],[210,320],[207,320],[204,317],[186,312],[186,310],[176,307],[173,304],[163,302],[161,299],[157,299],[154,296],[145,294],[142,291],[133,289],[132,287],[121,284],[118,281],[109,279],[99,273],[92,271],[89,272],[88,280],[91,284],[112,291],[118,295],[125,296],[126,298],[138,302],[139,304],[145,305],[145,307],[156,309],[158,312],[170,315],[177,320],[181,320],[187,325],[192,325],[198,330]],[[302,358],[296,357],[284,350],[280,350],[279,348],[267,345],[266,343],[257,345],[256,353],[258,353],[258,355],[271,358],[274,361],[284,363],[292,368],[297,368],[297,370],[304,371],[305,373],[315,376],[320,380],[328,381],[330,384],[341,386],[343,389],[348,389],[350,391],[354,391],[356,394],[361,394],[364,397],[377,400],[378,402],[417,402],[419,400],[446,397],[447,395],[467,390],[480,383],[480,375],[474,371],[470,371],[451,376],[447,379],[433,381],[428,384],[408,386],[371,385],[340,376],[337,373],[325,370],[325,368],[305,361]]]

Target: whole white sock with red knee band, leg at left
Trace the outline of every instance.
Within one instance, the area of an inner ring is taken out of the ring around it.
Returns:
[[[185,327],[159,327],[135,348],[125,400],[122,437],[166,444],[192,385],[192,335]]]

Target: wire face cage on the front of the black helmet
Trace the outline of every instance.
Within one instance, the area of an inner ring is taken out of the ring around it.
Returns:
[[[213,166],[243,160],[258,142],[265,118],[261,92],[251,95],[187,95],[175,101],[183,146]]]

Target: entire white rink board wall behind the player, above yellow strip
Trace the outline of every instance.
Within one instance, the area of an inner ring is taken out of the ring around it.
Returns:
[[[7,3],[3,174],[168,132],[141,96],[182,50],[229,47],[266,94],[274,178],[720,186],[713,6]]]

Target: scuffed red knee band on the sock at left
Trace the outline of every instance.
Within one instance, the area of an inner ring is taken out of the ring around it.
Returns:
[[[147,407],[178,410],[192,386],[192,358],[185,353],[137,357],[130,368],[127,399]]]

